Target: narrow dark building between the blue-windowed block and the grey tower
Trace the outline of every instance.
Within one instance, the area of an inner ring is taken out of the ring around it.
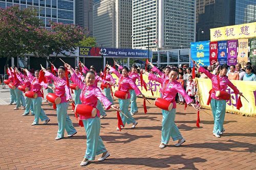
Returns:
[[[93,36],[93,0],[76,0],[75,8],[75,24]]]

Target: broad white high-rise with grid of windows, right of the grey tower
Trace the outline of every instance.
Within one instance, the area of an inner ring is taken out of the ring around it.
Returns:
[[[133,48],[188,48],[195,41],[193,0],[133,0]],[[149,34],[148,34],[149,33]]]

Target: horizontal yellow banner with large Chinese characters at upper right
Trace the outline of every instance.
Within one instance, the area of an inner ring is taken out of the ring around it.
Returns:
[[[256,37],[256,22],[210,29],[210,41]]]

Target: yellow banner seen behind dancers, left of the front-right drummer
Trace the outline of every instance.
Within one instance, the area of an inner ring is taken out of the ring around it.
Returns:
[[[118,77],[115,74],[112,74],[112,76],[116,80],[116,84],[118,84],[118,80],[119,80]],[[146,98],[152,98],[152,99],[160,98],[161,84],[156,81],[148,80],[148,77],[146,75],[143,75],[143,80],[145,81],[145,83],[147,85],[147,91],[145,90],[144,87],[142,88],[140,81],[137,80],[136,84],[137,84],[138,88],[140,89],[140,91],[146,96]],[[154,93],[154,96],[152,95],[151,88]],[[115,86],[115,90],[118,90],[117,86]],[[116,97],[114,96],[114,98],[116,98]]]

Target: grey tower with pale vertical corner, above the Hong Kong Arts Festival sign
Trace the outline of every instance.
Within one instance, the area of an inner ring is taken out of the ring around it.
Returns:
[[[94,1],[93,36],[99,46],[131,48],[132,0]]]

